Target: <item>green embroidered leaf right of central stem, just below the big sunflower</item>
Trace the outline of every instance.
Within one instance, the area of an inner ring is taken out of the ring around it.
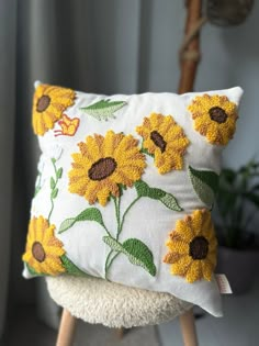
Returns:
[[[153,200],[160,201],[168,209],[174,211],[182,211],[182,208],[178,204],[177,199],[171,193],[168,193],[161,189],[150,188],[145,181],[138,180],[135,182],[135,188],[138,197],[148,197]]]

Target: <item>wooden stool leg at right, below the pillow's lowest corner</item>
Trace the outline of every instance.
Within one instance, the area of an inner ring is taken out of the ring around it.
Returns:
[[[180,324],[184,346],[198,346],[196,328],[192,309],[180,316]]]

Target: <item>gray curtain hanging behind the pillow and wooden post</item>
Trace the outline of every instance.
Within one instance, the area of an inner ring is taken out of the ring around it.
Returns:
[[[34,80],[108,94],[174,92],[183,4],[171,0],[0,0],[0,337],[7,292],[10,304],[37,299],[45,320],[57,321],[43,283],[35,290],[35,282],[42,281],[21,277],[38,156],[31,130]],[[236,85],[245,89],[238,132],[224,156],[227,165],[236,167],[258,153],[258,23],[256,2],[244,25],[207,24],[201,35],[196,89]]]

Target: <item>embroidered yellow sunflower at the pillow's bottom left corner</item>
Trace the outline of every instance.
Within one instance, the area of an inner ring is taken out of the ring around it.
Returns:
[[[43,216],[33,217],[29,224],[26,249],[22,259],[37,274],[59,275],[66,271],[60,256],[63,243],[54,235],[55,225]]]

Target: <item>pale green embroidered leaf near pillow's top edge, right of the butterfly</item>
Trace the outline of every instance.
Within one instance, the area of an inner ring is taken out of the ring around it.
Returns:
[[[80,110],[99,121],[108,121],[109,118],[115,118],[114,113],[123,108],[125,104],[125,101],[110,101],[108,99],[98,101],[85,108],[80,108]]]

